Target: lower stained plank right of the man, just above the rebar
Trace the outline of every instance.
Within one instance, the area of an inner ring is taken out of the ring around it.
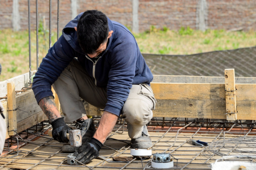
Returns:
[[[237,119],[255,120],[256,101],[237,101]],[[241,110],[241,111],[240,111]],[[226,119],[226,102],[219,100],[159,100],[154,117]]]

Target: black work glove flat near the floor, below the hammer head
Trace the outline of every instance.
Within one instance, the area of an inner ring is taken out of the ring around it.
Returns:
[[[92,137],[89,143],[83,144],[74,153],[74,156],[76,156],[75,159],[86,164],[99,156],[99,151],[102,146],[103,144],[100,141]]]

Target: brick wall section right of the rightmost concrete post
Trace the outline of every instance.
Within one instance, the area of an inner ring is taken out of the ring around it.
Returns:
[[[207,0],[210,29],[256,30],[256,0]]]

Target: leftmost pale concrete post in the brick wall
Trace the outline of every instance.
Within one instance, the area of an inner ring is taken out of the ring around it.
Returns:
[[[12,26],[13,31],[20,30],[19,0],[13,0]]]

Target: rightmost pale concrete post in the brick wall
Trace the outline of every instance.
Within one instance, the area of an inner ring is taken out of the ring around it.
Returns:
[[[197,4],[197,29],[205,31],[207,29],[208,10],[206,0],[198,0]]]

